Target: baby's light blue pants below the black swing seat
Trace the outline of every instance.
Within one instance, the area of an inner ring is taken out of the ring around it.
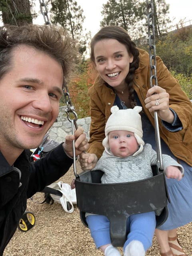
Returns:
[[[86,222],[94,239],[96,248],[105,244],[111,244],[110,222],[103,215],[88,215]],[[142,242],[145,251],[152,245],[152,239],[156,227],[155,212],[146,212],[131,215],[127,219],[127,240],[123,249],[132,241]]]

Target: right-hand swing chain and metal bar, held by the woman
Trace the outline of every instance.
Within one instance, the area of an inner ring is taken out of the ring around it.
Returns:
[[[150,86],[158,85],[157,74],[156,74],[156,47],[155,47],[155,26],[154,26],[154,6],[153,0],[150,2],[146,0],[147,4],[147,20],[148,20],[148,37],[149,37],[149,57],[150,57]],[[151,34],[152,30],[152,34]],[[153,54],[152,54],[153,52]],[[153,85],[152,81],[155,81]],[[158,125],[158,114],[154,111],[154,121],[155,121],[155,136],[156,136],[156,151],[157,151],[157,161],[160,165],[160,170],[163,170],[163,160],[162,160],[162,150],[161,150],[161,138]]]

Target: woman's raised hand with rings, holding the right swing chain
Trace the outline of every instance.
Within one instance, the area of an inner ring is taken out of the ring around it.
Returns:
[[[160,119],[172,124],[174,114],[169,109],[169,94],[160,86],[153,86],[147,92],[145,106],[150,112],[157,110]]]

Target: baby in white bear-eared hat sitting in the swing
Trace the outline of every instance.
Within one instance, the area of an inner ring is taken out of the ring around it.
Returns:
[[[132,182],[153,176],[151,166],[157,163],[157,154],[142,140],[142,107],[119,110],[111,108],[106,127],[102,157],[92,170],[102,170],[102,183]],[[165,174],[182,179],[183,167],[168,155],[162,155]],[[134,195],[133,195],[134,196]],[[97,248],[105,256],[120,256],[110,240],[110,222],[106,216],[86,213],[86,222]],[[156,228],[155,212],[134,214],[127,220],[127,240],[124,256],[144,256],[152,245]]]

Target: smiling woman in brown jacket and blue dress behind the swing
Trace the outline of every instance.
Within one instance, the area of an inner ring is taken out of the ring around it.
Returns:
[[[192,220],[192,104],[160,57],[156,57],[158,86],[150,88],[149,54],[137,49],[127,32],[106,26],[92,38],[91,61],[98,78],[90,88],[90,147],[80,158],[83,170],[92,169],[104,148],[105,124],[110,109],[142,106],[143,139],[154,150],[154,110],[157,110],[162,153],[176,159],[185,170],[181,181],[167,179],[171,204],[166,222],[156,229],[160,255],[186,255],[176,228]]]

